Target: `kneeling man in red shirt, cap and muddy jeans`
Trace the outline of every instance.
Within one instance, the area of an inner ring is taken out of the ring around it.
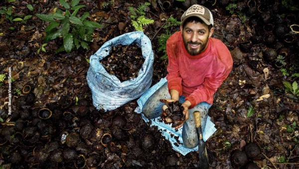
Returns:
[[[213,16],[209,9],[194,4],[181,16],[180,31],[166,42],[168,66],[166,80],[145,103],[143,113],[156,118],[161,113],[161,98],[182,103],[185,122],[182,139],[187,148],[198,144],[193,112],[201,112],[202,131],[213,95],[232,70],[231,54],[224,43],[211,38]],[[170,98],[170,99],[169,99]]]

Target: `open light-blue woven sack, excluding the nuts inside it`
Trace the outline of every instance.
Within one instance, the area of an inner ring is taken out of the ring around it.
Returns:
[[[145,59],[138,77],[121,82],[116,76],[109,74],[100,63],[109,55],[113,46],[136,44],[141,47]],[[153,51],[149,38],[143,31],[130,32],[115,37],[90,57],[87,72],[87,83],[92,92],[93,105],[97,109],[114,110],[127,102],[140,97],[149,89],[153,73]]]

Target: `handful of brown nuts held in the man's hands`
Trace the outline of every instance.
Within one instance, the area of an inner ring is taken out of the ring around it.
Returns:
[[[183,115],[184,107],[178,101],[167,101],[167,99],[160,99],[163,102],[161,119],[165,124],[172,124],[171,127],[179,126],[184,122],[185,116]]]

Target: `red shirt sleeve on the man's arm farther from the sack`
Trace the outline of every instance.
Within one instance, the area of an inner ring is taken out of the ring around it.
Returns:
[[[231,70],[232,67],[220,72],[217,76],[215,76],[215,78],[205,78],[204,83],[199,85],[196,90],[185,98],[185,100],[189,100],[191,102],[189,109],[193,108],[198,103],[207,101],[209,98],[213,97],[217,88],[228,77]]]

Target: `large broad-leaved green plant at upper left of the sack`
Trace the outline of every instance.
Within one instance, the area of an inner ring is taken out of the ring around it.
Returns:
[[[89,12],[84,12],[81,17],[77,15],[79,9],[85,7],[85,5],[78,5],[79,1],[72,0],[71,5],[69,5],[66,1],[59,0],[65,11],[57,9],[56,12],[51,14],[36,14],[41,20],[50,22],[45,28],[45,42],[62,36],[63,46],[58,48],[55,53],[61,51],[70,53],[75,47],[77,49],[80,47],[88,49],[89,46],[86,41],[93,40],[91,35],[94,32],[94,28],[102,27],[97,22],[86,20]]]

